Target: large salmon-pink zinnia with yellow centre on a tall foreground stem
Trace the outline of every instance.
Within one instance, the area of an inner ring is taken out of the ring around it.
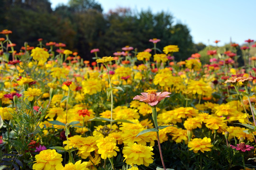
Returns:
[[[168,96],[169,92],[157,92],[156,90],[147,90],[146,93],[141,93],[142,95],[137,95],[133,98],[133,100],[139,100],[141,102],[146,102],[150,106],[155,106],[160,102],[161,100],[165,99],[165,97],[170,97]]]

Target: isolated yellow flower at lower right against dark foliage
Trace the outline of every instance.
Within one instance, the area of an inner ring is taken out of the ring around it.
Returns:
[[[207,137],[204,137],[203,139],[194,138],[188,143],[188,147],[190,147],[189,150],[193,150],[194,153],[198,153],[198,151],[201,151],[202,153],[204,153],[204,151],[210,151],[212,146],[210,138]]]

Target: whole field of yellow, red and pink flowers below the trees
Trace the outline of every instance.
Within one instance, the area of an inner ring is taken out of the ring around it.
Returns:
[[[11,33],[0,32],[0,170],[256,168],[253,40],[216,41],[208,64],[155,38],[88,61],[43,39],[18,49]]]

